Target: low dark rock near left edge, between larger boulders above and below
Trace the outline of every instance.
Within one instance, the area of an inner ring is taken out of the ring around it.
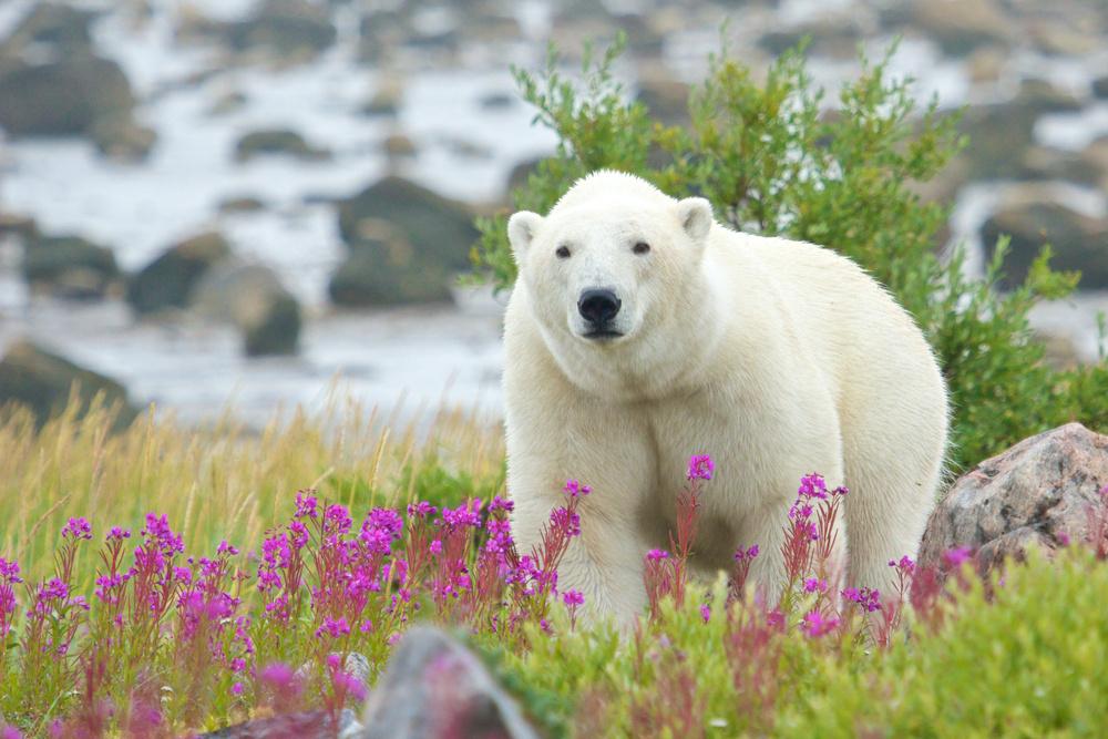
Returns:
[[[103,298],[120,277],[112,250],[80,236],[39,236],[27,242],[23,278],[33,292]]]

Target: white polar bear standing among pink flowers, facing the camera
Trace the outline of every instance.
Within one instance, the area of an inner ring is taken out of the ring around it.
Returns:
[[[567,479],[588,484],[558,588],[626,623],[643,560],[669,548],[689,456],[710,454],[694,563],[777,584],[806,474],[845,485],[848,581],[886,589],[914,558],[943,475],[947,397],[912,318],[851,260],[737,233],[698,197],[612,171],[544,218],[507,223],[507,490],[520,551]]]

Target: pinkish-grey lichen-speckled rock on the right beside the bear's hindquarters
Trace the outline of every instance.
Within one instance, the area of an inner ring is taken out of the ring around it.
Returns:
[[[958,478],[931,514],[919,566],[946,568],[943,555],[968,547],[986,575],[1028,547],[1047,555],[1085,542],[1090,512],[1108,485],[1108,437],[1080,423],[1040,433]]]

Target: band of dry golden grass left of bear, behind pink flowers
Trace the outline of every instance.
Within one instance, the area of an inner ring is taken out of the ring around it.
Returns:
[[[223,540],[256,551],[267,528],[290,519],[298,490],[350,506],[356,521],[373,505],[427,496],[417,490],[424,479],[447,475],[503,493],[503,433],[494,420],[443,409],[418,434],[412,423],[332,398],[318,415],[275,413],[260,431],[227,412],[197,429],[141,415],[112,434],[110,410],[95,404],[78,419],[71,403],[37,433],[25,410],[7,409],[0,556],[18,560],[27,579],[49,577],[59,532],[75,516],[92,522],[99,546],[111,526],[137,538],[146,513],[166,513],[186,554],[199,556],[214,555]],[[93,576],[95,560],[90,551],[79,561],[78,583]]]

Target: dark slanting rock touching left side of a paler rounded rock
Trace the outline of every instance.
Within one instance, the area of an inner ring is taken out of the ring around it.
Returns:
[[[229,255],[230,246],[219,234],[182,242],[132,277],[127,302],[140,315],[184,308],[197,280]]]

